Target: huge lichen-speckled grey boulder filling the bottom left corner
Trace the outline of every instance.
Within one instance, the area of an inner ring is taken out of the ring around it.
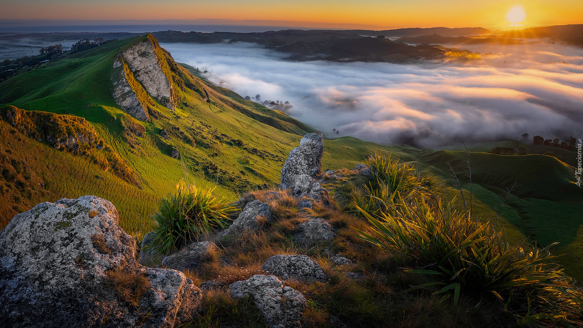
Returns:
[[[15,215],[0,231],[0,254],[1,327],[171,328],[201,301],[179,271],[138,264],[114,205],[96,196]],[[136,307],[116,295],[115,273],[147,281]]]

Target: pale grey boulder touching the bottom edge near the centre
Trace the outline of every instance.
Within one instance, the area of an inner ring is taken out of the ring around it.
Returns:
[[[229,285],[235,298],[250,297],[272,328],[301,328],[305,298],[291,287],[283,287],[275,275],[256,274]]]

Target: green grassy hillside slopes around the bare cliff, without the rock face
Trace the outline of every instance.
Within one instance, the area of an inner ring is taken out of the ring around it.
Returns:
[[[152,119],[142,122],[115,104],[110,81],[115,56],[143,38],[113,41],[0,83],[4,103],[27,111],[84,117],[139,180],[139,184],[127,183],[88,156],[30,139],[2,117],[3,165],[15,172],[10,160],[26,160],[26,172],[34,176],[29,179],[44,187],[33,187],[34,195],[22,196],[13,183],[17,177],[10,181],[0,177],[7,190],[2,194],[0,227],[40,201],[95,194],[112,201],[128,232],[147,231],[157,201],[185,178],[181,160],[170,157],[173,149],[182,155],[191,183],[217,184],[217,191],[233,200],[244,191],[279,183],[291,148],[301,135],[314,131],[286,114],[202,81],[178,65],[170,67],[178,77],[173,81],[179,97],[175,111],[152,99]],[[173,63],[169,55],[164,59]],[[161,137],[162,129],[169,139]],[[143,130],[142,137],[136,136],[137,130]],[[323,162],[330,168],[352,168],[367,153],[389,149],[350,137],[326,140]]]

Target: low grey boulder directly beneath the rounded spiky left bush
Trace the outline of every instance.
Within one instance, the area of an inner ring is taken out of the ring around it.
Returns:
[[[186,249],[164,257],[162,265],[174,270],[196,270],[205,263],[211,252],[220,252],[213,242],[192,243]]]

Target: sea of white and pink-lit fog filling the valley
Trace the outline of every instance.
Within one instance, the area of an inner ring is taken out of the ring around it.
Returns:
[[[482,59],[388,64],[287,61],[250,43],[161,46],[241,96],[289,101],[287,114],[328,137],[427,147],[525,132],[583,138],[583,48],[465,47]]]

